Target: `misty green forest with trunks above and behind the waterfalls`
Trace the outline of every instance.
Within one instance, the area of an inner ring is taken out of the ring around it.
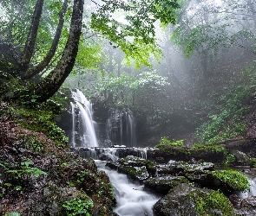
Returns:
[[[4,1],[1,98],[60,101],[76,87],[130,108],[140,137],[161,131],[152,143],[250,136],[254,10],[253,1]]]

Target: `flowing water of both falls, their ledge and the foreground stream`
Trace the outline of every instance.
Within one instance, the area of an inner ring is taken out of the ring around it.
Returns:
[[[95,135],[92,105],[79,90],[72,92],[75,103],[71,103],[72,111],[72,143],[74,152],[85,159],[93,158],[99,170],[103,170],[115,187],[114,194],[117,206],[114,211],[119,216],[153,216],[152,207],[160,199],[143,190],[143,186],[128,181],[127,175],[105,167],[106,162],[99,161],[104,155],[108,159],[117,160],[119,150],[125,146],[132,149],[138,157],[147,158],[147,149],[135,148],[135,119],[128,109],[118,111],[112,109],[106,124],[107,141],[114,148],[98,147]],[[120,145],[121,144],[121,145]]]

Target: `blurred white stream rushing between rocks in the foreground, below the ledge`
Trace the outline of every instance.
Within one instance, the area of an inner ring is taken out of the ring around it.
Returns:
[[[112,185],[117,206],[114,212],[119,216],[153,216],[152,207],[160,197],[143,191],[141,185],[128,181],[127,175],[118,173],[110,168],[105,168],[106,162],[95,161],[99,170],[107,173]]]

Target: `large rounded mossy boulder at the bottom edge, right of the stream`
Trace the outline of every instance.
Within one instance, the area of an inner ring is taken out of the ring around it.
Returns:
[[[210,189],[179,184],[154,204],[156,216],[234,215],[224,194]]]

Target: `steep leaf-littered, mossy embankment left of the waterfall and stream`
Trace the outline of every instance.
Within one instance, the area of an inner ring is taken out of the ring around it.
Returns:
[[[0,215],[115,215],[108,175],[69,150],[56,113],[0,103]]]

